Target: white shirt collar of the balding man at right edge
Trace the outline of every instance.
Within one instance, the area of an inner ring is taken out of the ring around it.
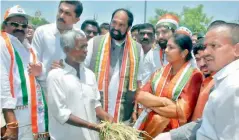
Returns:
[[[218,71],[213,78],[217,81],[227,77],[229,74],[236,72],[239,69],[239,59],[231,62],[230,64],[226,65],[220,71]]]

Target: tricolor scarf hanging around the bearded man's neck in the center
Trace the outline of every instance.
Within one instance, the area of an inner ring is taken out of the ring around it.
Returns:
[[[111,50],[111,37],[108,34],[100,42],[100,46],[97,52],[95,74],[98,81],[98,88],[103,92],[103,107],[108,112],[108,97],[109,97],[109,71],[110,71],[110,50]],[[121,98],[124,91],[126,91],[127,83],[125,82],[126,76],[129,76],[128,90],[135,91],[137,88],[137,73],[139,65],[139,56],[136,43],[127,33],[125,40],[125,47],[123,52],[122,64],[120,67],[120,82],[116,99],[116,107],[114,119],[118,121],[120,114]],[[127,68],[127,66],[129,66]]]

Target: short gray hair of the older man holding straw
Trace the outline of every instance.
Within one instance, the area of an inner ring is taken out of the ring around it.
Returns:
[[[74,48],[76,43],[76,38],[85,38],[85,34],[81,31],[69,30],[64,32],[60,37],[61,48]]]

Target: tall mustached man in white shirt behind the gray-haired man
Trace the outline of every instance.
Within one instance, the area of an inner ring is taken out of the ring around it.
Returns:
[[[43,63],[43,73],[38,80],[46,90],[46,77],[53,62],[65,58],[60,47],[60,35],[67,30],[79,30],[73,27],[80,20],[83,6],[78,0],[60,1],[56,23],[38,27],[34,33],[32,47],[36,50],[39,60]],[[56,63],[57,64],[57,63]]]

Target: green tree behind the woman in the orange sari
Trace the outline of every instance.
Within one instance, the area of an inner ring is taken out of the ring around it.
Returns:
[[[156,9],[156,15],[150,18],[149,22],[155,25],[160,16],[166,13],[171,13],[177,15],[180,19],[180,26],[185,26],[189,28],[192,32],[206,32],[207,26],[211,23],[213,17],[208,17],[207,14],[203,12],[203,5],[198,5],[195,8],[183,7],[183,11],[178,14],[175,12]]]

